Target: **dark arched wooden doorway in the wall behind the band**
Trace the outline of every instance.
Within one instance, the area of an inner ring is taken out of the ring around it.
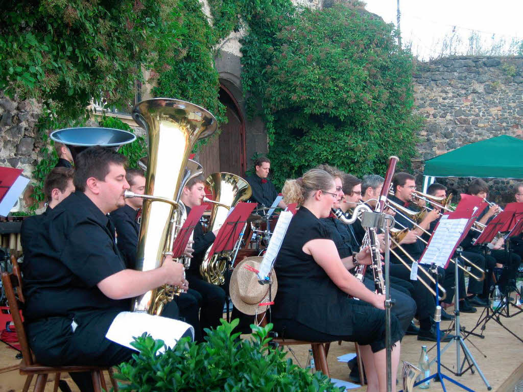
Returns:
[[[220,136],[211,137],[202,147],[200,163],[205,170],[205,177],[217,171],[227,171],[243,177],[247,165],[243,114],[233,94],[223,85],[220,85],[219,99],[226,107],[229,122],[221,125]]]

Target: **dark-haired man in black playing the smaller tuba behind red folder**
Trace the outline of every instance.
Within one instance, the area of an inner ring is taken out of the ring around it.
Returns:
[[[185,205],[187,216],[192,207],[201,205],[205,196],[205,179],[198,176],[187,181],[180,200]],[[197,223],[192,238],[194,244],[193,257],[189,269],[186,271],[187,280],[190,282],[191,289],[196,290],[202,297],[200,306],[200,332],[205,336],[205,328],[216,328],[220,325],[220,319],[223,316],[223,306],[225,305],[225,291],[215,284],[209,283],[202,279],[200,275],[200,264],[207,249],[216,239],[218,230],[215,232],[203,233],[203,227],[200,222]]]

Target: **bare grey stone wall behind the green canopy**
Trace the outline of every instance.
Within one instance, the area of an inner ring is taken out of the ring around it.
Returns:
[[[413,159],[418,182],[426,159],[494,136],[523,139],[522,57],[452,57],[421,63],[414,74],[414,91],[417,112],[426,120],[419,132],[419,154]],[[514,201],[507,191],[513,181],[485,180],[491,200]],[[465,191],[469,179],[437,181],[457,194]]]

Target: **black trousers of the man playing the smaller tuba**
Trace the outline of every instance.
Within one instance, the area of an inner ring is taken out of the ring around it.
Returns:
[[[204,281],[200,276],[189,273],[186,276],[189,287],[200,293],[200,330],[201,336],[205,336],[205,328],[216,328],[220,325],[223,316],[223,306],[225,305],[225,291],[215,284]]]

